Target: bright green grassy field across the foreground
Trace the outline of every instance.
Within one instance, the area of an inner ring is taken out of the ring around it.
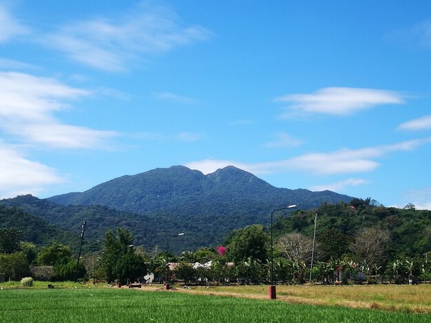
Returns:
[[[81,287],[0,290],[0,322],[410,323],[431,322],[431,316],[178,291]]]

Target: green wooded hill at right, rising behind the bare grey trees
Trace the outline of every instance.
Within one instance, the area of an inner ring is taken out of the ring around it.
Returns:
[[[353,199],[348,204],[324,203],[317,209],[280,217],[274,224],[275,240],[299,233],[311,243],[316,214],[321,260],[353,254],[359,261],[384,263],[403,256],[423,259],[431,251],[431,211],[414,210],[414,205],[385,208],[370,203],[370,199]]]

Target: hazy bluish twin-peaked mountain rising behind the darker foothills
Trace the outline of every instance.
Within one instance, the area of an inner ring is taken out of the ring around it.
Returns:
[[[185,166],[172,166],[118,177],[85,192],[58,195],[48,200],[63,205],[105,205],[140,214],[180,209],[185,205],[195,210],[192,212],[214,215],[232,209],[237,209],[234,213],[238,214],[240,208],[244,213],[254,213],[253,210],[258,208],[264,215],[262,211],[268,212],[280,205],[295,203],[299,208],[308,209],[324,202],[349,202],[351,199],[330,191],[275,188],[250,172],[233,166],[209,175]]]

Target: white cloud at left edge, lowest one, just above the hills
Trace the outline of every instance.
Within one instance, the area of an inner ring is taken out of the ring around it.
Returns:
[[[0,142],[0,198],[37,194],[63,179],[48,166],[23,156],[17,147]]]

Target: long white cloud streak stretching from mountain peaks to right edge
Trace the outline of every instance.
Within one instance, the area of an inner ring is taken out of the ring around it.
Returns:
[[[379,166],[375,159],[385,157],[389,153],[402,151],[412,151],[419,146],[431,142],[431,137],[419,140],[409,140],[382,146],[360,148],[360,149],[340,149],[331,153],[309,153],[284,159],[280,161],[268,161],[264,163],[241,163],[231,160],[204,159],[202,161],[192,161],[185,166],[198,169],[204,173],[209,173],[233,165],[242,168],[255,175],[288,172],[292,170],[302,170],[315,175],[335,175],[359,172],[371,172]]]

